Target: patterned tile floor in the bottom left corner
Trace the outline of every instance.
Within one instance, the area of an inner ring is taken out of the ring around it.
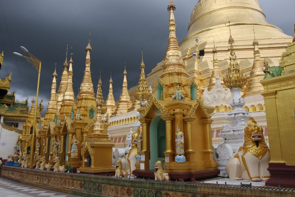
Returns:
[[[42,188],[35,188],[29,185],[20,184],[0,177],[1,197],[25,197],[25,196],[54,196],[54,197],[74,197],[66,193],[50,191]]]

